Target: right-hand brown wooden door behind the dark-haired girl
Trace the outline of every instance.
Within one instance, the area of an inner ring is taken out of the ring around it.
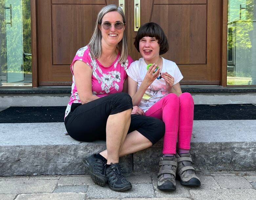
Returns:
[[[221,1],[141,0],[140,24],[156,22],[164,30],[169,51],[164,58],[176,62],[184,78],[181,85],[220,84],[220,9]],[[145,6],[146,5],[146,6]],[[128,2],[133,10],[133,1]],[[128,27],[134,26],[134,14]],[[128,34],[128,51],[133,59],[141,57],[133,42],[137,32]]]

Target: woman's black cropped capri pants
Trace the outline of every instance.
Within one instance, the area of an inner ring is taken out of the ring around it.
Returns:
[[[86,104],[73,103],[65,118],[65,127],[69,135],[78,141],[106,140],[108,116],[132,108],[132,98],[124,92],[110,94]],[[134,130],[155,144],[163,137],[165,126],[160,119],[132,114],[128,133]]]

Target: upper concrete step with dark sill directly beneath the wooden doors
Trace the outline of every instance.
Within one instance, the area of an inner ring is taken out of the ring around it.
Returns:
[[[181,86],[195,104],[255,104],[256,87]],[[0,87],[0,106],[67,106],[71,87]]]

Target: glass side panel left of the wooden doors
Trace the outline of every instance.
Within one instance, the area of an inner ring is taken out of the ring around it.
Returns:
[[[32,86],[30,0],[0,0],[0,86]]]

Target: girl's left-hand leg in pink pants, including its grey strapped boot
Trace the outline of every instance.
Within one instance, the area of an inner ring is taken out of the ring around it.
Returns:
[[[177,159],[174,155],[176,153],[179,108],[178,96],[176,94],[168,94],[145,113],[145,115],[162,119],[165,124],[165,134],[163,137],[164,155],[160,157],[157,181],[157,188],[160,190],[176,190]]]

